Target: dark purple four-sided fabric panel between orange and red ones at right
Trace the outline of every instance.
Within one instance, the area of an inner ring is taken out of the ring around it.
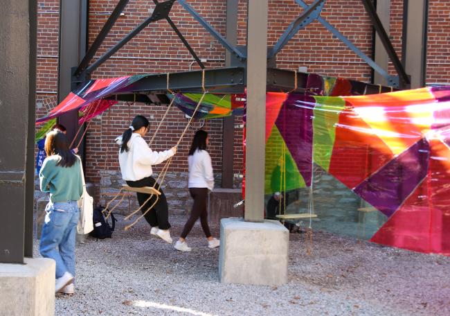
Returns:
[[[390,217],[426,177],[429,156],[429,143],[421,139],[354,188],[354,193]]]

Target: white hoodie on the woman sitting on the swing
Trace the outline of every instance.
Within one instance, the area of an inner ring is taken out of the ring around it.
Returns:
[[[122,137],[116,139],[122,144]],[[122,179],[137,181],[153,174],[152,165],[161,164],[174,155],[172,150],[156,152],[150,149],[145,140],[138,133],[133,133],[128,143],[128,151],[120,152],[119,164]]]

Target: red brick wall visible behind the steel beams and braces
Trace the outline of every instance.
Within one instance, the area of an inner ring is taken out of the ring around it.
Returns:
[[[38,49],[37,49],[37,116],[48,111],[46,105],[55,102],[57,90],[57,53],[59,2],[39,0],[38,3]],[[307,1],[311,3],[312,1]],[[402,0],[391,0],[390,37],[397,52],[402,46]],[[450,83],[450,8],[447,0],[430,0],[427,83]],[[89,44],[103,26],[116,0],[89,1]],[[226,28],[226,0],[190,0],[190,5],[210,22],[220,33]],[[152,1],[129,1],[125,15],[120,17],[111,30],[97,56],[115,44],[132,28],[147,17]],[[238,44],[245,43],[246,1],[240,1],[238,17]],[[303,9],[293,0],[269,1],[269,45],[275,44],[283,30]],[[225,51],[222,46],[201,28],[178,3],[170,13],[181,33],[197,52],[205,58],[207,68],[224,67]],[[361,51],[372,54],[372,27],[361,1],[328,0],[321,14],[327,21],[347,36]],[[294,37],[277,58],[282,69],[307,67],[307,71],[329,76],[341,76],[370,81],[371,69],[352,51],[314,21]],[[187,49],[174,34],[165,20],[150,24],[145,30],[112,56],[96,72],[93,78],[116,77],[134,73],[159,73],[198,69]],[[390,67],[390,73],[394,73]],[[87,177],[98,183],[100,170],[118,170],[115,137],[129,125],[136,114],[150,117],[156,128],[165,107],[147,105],[115,105],[102,116],[94,119],[87,132]],[[154,141],[154,149],[164,150],[173,146],[187,123],[178,109],[172,109]],[[235,119],[240,124],[240,118]],[[195,123],[199,124],[198,122]],[[215,173],[222,168],[222,120],[205,122],[210,132],[210,154]],[[190,129],[179,147],[172,172],[186,172],[187,152],[193,130]],[[150,140],[150,138],[149,138]],[[235,131],[235,173],[242,173],[242,129]]]

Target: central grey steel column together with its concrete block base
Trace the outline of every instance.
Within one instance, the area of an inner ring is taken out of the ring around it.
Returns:
[[[268,0],[248,3],[245,213],[221,220],[219,275],[222,283],[275,286],[287,282],[289,231],[264,220]]]

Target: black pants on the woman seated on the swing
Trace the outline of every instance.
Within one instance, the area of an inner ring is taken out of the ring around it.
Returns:
[[[127,184],[134,188],[139,188],[142,186],[154,186],[155,183],[156,180],[153,179],[153,177],[146,177],[138,181],[127,181]],[[159,184],[156,184],[155,188],[156,190],[161,192],[161,195],[159,195],[159,200],[154,205],[153,209],[145,214],[145,220],[147,220],[151,227],[158,226],[159,229],[169,229],[169,208],[167,200],[165,199],[163,190],[159,188]],[[142,206],[145,201],[150,198],[150,194],[146,193],[136,193],[136,195],[138,196],[138,202],[140,206]],[[153,195],[150,201],[148,201],[145,206],[142,207],[142,213],[145,213],[145,211],[147,211],[147,209],[152,206],[155,200],[156,195]]]

